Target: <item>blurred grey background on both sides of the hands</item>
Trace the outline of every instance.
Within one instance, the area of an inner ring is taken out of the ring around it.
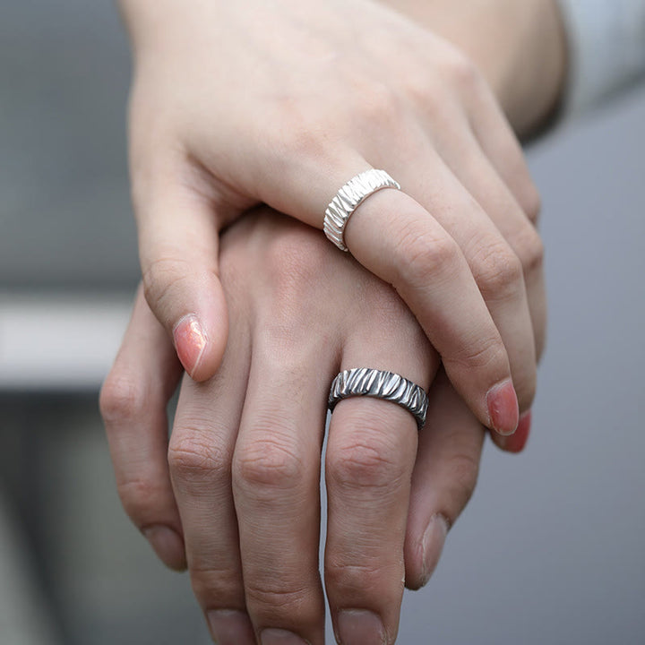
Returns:
[[[207,643],[116,498],[99,385],[138,279],[111,2],[0,4],[0,644]],[[550,335],[400,643],[645,643],[645,90],[529,150]],[[329,641],[331,642],[331,640]]]

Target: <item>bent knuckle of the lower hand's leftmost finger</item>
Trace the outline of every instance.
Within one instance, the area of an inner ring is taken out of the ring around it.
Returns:
[[[115,367],[107,375],[99,397],[100,413],[107,424],[119,426],[141,418],[149,404],[147,388],[133,374]]]

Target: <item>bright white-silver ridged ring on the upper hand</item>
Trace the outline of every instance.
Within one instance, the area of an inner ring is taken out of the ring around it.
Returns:
[[[341,251],[348,251],[345,245],[345,227],[352,213],[357,210],[360,202],[383,188],[400,190],[400,185],[384,170],[370,168],[352,177],[331,200],[325,211],[323,230],[327,238]]]

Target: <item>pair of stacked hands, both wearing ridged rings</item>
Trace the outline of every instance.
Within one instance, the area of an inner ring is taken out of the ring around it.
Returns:
[[[481,424],[511,433],[533,397],[545,302],[519,145],[468,59],[378,4],[123,4],[143,285],[166,328],[140,293],[102,393],[125,508],[188,566],[220,643],[322,643],[331,378],[371,366],[432,383],[418,446],[414,419],[383,401],[343,401],[330,427],[334,626],[346,645],[392,642],[404,569],[426,581],[474,486]],[[369,167],[403,186],[348,225],[374,275],[267,212],[219,250],[219,229],[260,202],[321,228]],[[194,379],[169,452],[168,331]],[[528,427],[495,442],[520,450]]]

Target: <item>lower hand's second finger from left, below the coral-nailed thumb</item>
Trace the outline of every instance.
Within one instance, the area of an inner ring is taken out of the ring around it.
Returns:
[[[250,361],[243,336],[229,340],[210,381],[185,379],[168,450],[193,591],[220,645],[255,642],[245,610],[230,467]]]

